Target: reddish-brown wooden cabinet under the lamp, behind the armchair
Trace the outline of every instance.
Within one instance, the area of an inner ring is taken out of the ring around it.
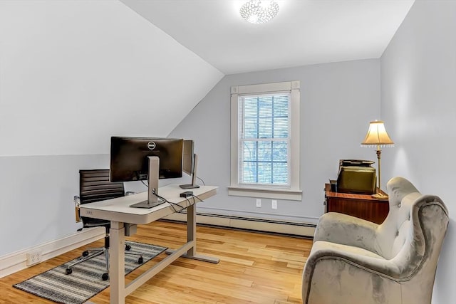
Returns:
[[[388,200],[374,199],[368,194],[331,192],[330,184],[325,184],[325,211],[356,216],[360,219],[381,224],[390,210]]]

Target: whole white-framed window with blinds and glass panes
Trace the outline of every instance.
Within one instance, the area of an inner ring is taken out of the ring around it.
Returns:
[[[230,195],[301,200],[299,81],[232,87]]]

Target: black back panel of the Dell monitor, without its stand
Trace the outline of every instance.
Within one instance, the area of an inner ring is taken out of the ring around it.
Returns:
[[[110,180],[130,182],[147,179],[149,156],[160,159],[158,177],[182,177],[183,140],[145,137],[111,137]]]

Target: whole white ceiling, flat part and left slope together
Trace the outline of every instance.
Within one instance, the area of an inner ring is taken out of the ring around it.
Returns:
[[[413,1],[0,1],[1,156],[109,152],[167,136],[224,75],[378,58]]]

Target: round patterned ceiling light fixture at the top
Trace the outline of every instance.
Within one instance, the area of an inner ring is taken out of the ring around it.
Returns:
[[[266,23],[279,13],[279,4],[275,0],[249,0],[239,9],[242,18],[250,23]]]

